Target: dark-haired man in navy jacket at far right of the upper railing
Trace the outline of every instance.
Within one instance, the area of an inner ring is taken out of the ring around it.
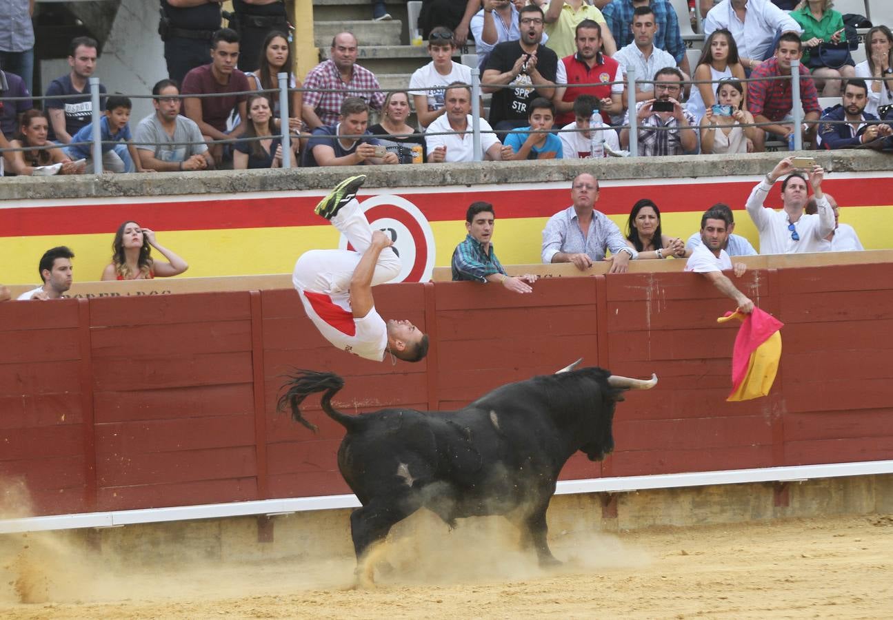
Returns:
[[[864,79],[849,79],[843,91],[843,105],[822,116],[819,125],[819,145],[825,149],[852,149],[867,145],[880,148],[890,135],[890,126],[878,123],[878,117],[865,112],[868,104],[868,85]],[[840,122],[846,120],[846,123]],[[837,122],[833,122],[837,121]],[[874,144],[872,144],[874,143]]]

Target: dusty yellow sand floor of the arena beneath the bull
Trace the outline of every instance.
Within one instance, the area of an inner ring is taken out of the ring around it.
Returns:
[[[369,591],[348,589],[350,558],[140,567],[91,564],[43,541],[45,559],[31,566],[0,558],[0,617],[893,616],[893,516],[557,533],[555,556],[568,562],[549,573],[500,548],[499,535],[463,540],[462,529],[447,544],[443,536],[396,541],[395,573]],[[21,603],[27,588],[47,601]]]

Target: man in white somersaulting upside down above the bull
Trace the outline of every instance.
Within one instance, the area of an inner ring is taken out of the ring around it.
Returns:
[[[383,361],[385,352],[404,361],[419,361],[428,353],[428,336],[407,320],[385,322],[375,310],[372,286],[400,273],[393,242],[373,231],[356,201],[365,175],[346,178],[316,205],[330,220],[350,250],[310,250],[295,264],[295,285],[307,316],[321,335],[338,349],[367,360]]]

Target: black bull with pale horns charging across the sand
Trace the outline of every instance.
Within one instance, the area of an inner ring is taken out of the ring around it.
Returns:
[[[358,561],[392,525],[429,508],[455,519],[505,515],[540,565],[555,564],[546,510],[564,463],[576,451],[600,460],[613,451],[614,407],[627,389],[656,383],[581,368],[503,385],[457,411],[381,409],[347,416],[331,404],[344,380],[299,371],[279,407],[313,431],[299,405],[324,392],[322,410],[346,428],[338,469],[363,504],[350,517]]]

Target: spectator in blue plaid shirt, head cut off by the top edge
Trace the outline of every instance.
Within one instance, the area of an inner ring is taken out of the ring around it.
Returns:
[[[602,15],[605,16],[608,28],[611,29],[614,41],[617,42],[617,49],[632,43],[633,13],[639,6],[649,5],[655,14],[657,24],[655,47],[669,52],[676,59],[676,65],[680,70],[686,75],[691,75],[689,58],[685,54],[685,41],[682,40],[679,29],[679,16],[676,15],[676,10],[672,8],[669,0],[613,0],[606,4],[602,9]]]

